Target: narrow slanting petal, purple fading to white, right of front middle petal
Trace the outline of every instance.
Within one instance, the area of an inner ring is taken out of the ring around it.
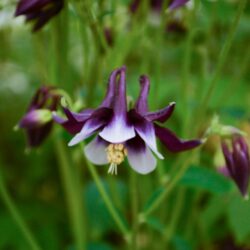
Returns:
[[[133,124],[135,131],[147,146],[160,158],[163,156],[158,152],[154,125],[140,116],[135,110],[129,111],[129,121]]]

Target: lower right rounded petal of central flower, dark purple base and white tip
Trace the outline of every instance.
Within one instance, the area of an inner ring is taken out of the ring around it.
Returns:
[[[140,174],[148,174],[156,168],[156,159],[144,141],[136,136],[126,142],[128,162]]]

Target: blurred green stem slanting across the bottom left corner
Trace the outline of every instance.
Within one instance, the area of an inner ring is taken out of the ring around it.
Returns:
[[[38,243],[36,242],[33,234],[29,230],[28,226],[26,225],[25,221],[23,220],[21,214],[19,213],[18,209],[16,208],[13,200],[11,199],[5,184],[3,182],[2,174],[0,173],[0,198],[2,199],[3,203],[5,204],[6,208],[8,209],[9,213],[11,214],[13,220],[15,221],[16,225],[19,227],[23,237],[26,239],[30,249],[32,250],[41,250]]]

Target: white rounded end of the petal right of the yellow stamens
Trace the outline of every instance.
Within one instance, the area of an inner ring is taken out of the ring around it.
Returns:
[[[156,168],[156,159],[148,147],[138,151],[128,147],[127,150],[128,162],[136,172],[148,174]]]

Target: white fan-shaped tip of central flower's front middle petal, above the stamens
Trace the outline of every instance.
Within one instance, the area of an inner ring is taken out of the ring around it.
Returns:
[[[135,137],[135,130],[122,117],[114,117],[99,135],[111,143],[120,143]]]

